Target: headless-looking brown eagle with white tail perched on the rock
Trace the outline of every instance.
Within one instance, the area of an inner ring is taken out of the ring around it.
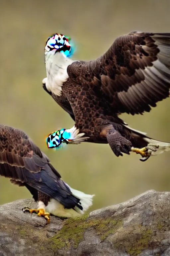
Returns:
[[[23,131],[3,124],[0,124],[0,175],[26,186],[38,201],[38,209],[23,208],[23,211],[36,212],[47,222],[49,213],[74,217],[92,205],[93,195],[69,187]]]

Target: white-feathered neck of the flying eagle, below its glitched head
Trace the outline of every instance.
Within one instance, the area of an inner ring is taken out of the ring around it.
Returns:
[[[64,53],[55,51],[47,52],[45,55],[45,67],[47,77],[43,79],[43,83],[49,92],[60,96],[62,85],[68,79],[67,67],[74,60],[66,57]]]

